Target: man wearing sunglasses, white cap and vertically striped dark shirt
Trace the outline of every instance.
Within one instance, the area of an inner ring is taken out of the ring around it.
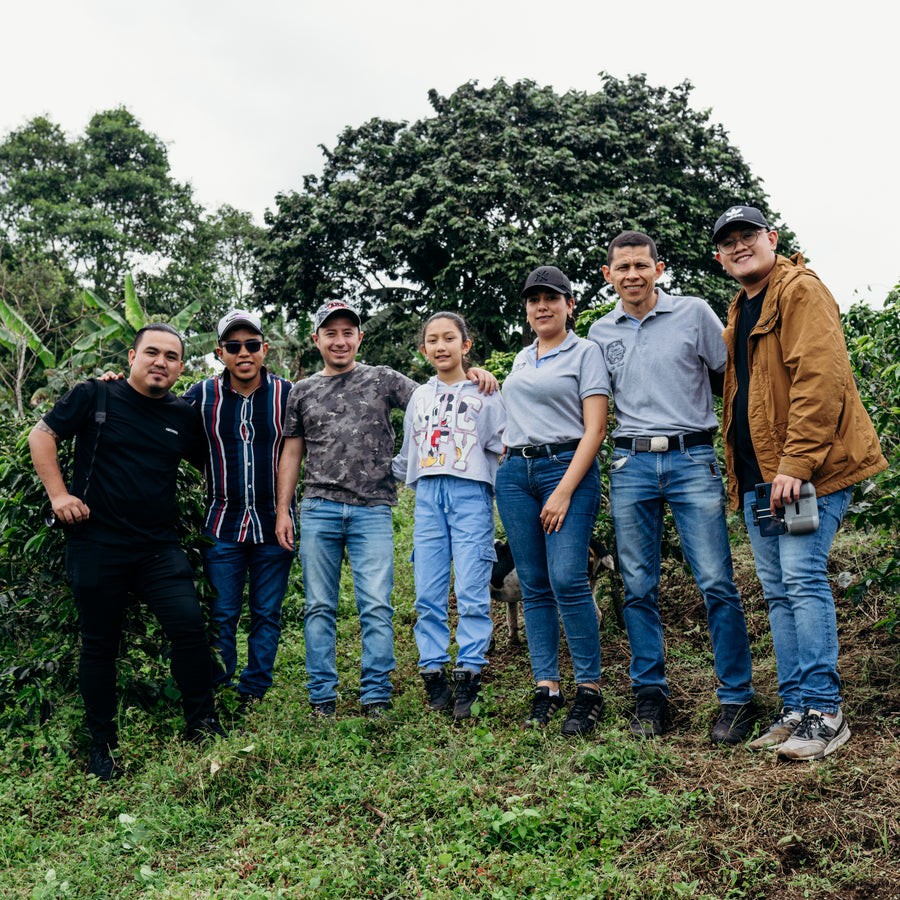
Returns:
[[[281,604],[294,554],[275,536],[275,494],[291,383],[264,365],[269,345],[259,317],[235,309],[219,321],[217,378],[184,395],[202,413],[208,507],[203,551],[206,577],[216,592],[211,644],[221,669],[214,681],[234,688],[237,627],[249,579],[247,665],[238,679],[239,712],[262,699],[272,684],[281,636]],[[293,515],[293,510],[292,510]]]

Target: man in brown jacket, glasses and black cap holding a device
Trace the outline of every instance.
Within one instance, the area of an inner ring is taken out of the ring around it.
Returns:
[[[820,759],[850,738],[840,708],[828,554],[852,485],[887,461],[856,390],[837,303],[801,254],[776,254],[778,235],[752,206],[723,213],[713,243],[716,259],[741,287],[723,335],[728,494],[733,509],[744,508],[782,700],[750,748],[775,749],[785,760]],[[772,485],[773,515],[811,482],[818,527],[762,534],[751,504],[756,485],[765,482]]]

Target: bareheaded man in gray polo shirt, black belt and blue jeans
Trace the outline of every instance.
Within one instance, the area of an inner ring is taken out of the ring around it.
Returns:
[[[588,337],[609,371],[617,427],[610,506],[625,586],[640,737],[666,729],[669,688],[659,612],[660,543],[669,504],[685,559],[706,605],[721,714],[714,743],[737,744],[753,724],[750,645],[734,586],[725,492],[713,449],[710,373],[725,368],[722,323],[704,300],[656,287],[664,264],[647,235],[613,238],[603,267],[619,295]]]

